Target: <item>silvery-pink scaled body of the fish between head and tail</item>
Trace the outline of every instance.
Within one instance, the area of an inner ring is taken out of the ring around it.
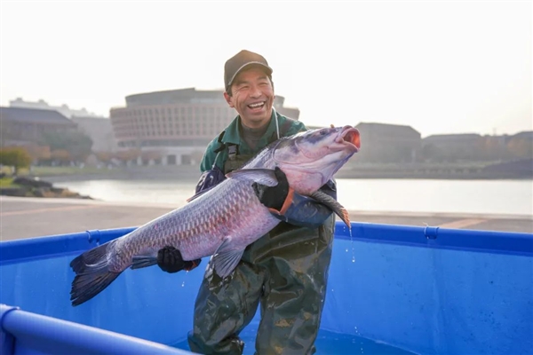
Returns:
[[[200,206],[200,213],[196,205]],[[241,217],[234,218],[235,215]],[[235,240],[235,250],[245,248],[251,242],[249,235],[267,233],[277,223],[279,220],[259,202],[251,182],[228,180],[117,242],[115,252],[120,257],[115,260],[118,263],[110,263],[110,270],[130,266],[132,257],[142,255],[148,248],[171,245],[180,250],[184,260],[213,254],[227,236]]]

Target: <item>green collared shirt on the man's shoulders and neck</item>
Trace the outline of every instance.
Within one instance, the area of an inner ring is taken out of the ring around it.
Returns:
[[[292,136],[293,134],[296,134],[301,131],[307,130],[306,125],[299,121],[293,121],[290,123],[289,130],[285,130],[284,134],[282,132],[282,127],[284,127],[285,122],[287,121],[287,117],[285,117],[282,114],[279,114],[278,112],[272,110],[272,117],[270,118],[270,122],[268,123],[268,128],[265,134],[261,136],[259,139],[258,145],[256,149],[251,149],[248,144],[246,144],[246,141],[241,138],[241,133],[239,131],[239,125],[241,124],[241,116],[237,115],[235,119],[229,123],[227,126],[224,137],[222,137],[221,141],[224,144],[235,144],[239,146],[239,154],[243,155],[253,155],[259,153],[261,149],[263,149],[265,146],[268,145],[270,138],[276,132],[275,128],[275,121],[276,118],[278,120],[278,126],[280,129],[280,137],[288,137]],[[217,157],[217,153],[215,153],[215,150],[218,149],[220,146],[219,143],[219,137],[214,138],[211,140],[211,143],[207,146],[205,149],[205,153],[203,154],[202,162],[200,163],[200,170],[206,171],[211,170],[213,164],[215,163],[216,159],[216,165],[219,167],[220,170],[224,171],[224,163],[227,161],[227,149],[222,150],[219,153],[219,156]]]

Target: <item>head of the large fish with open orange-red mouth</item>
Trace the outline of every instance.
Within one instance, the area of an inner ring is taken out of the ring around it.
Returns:
[[[297,193],[310,194],[330,180],[360,148],[359,130],[346,125],[306,130],[282,139],[273,158]]]

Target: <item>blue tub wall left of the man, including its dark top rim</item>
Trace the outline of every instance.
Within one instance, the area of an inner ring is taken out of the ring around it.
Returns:
[[[90,302],[70,305],[70,285],[75,276],[68,266],[70,261],[84,250],[132,229],[0,243],[0,303],[157,343],[181,340],[192,324],[189,320],[207,258],[194,272],[169,274],[157,267],[128,269]],[[30,256],[30,249],[36,258]],[[16,258],[20,254],[26,257]],[[176,328],[175,333],[161,331],[172,328]]]

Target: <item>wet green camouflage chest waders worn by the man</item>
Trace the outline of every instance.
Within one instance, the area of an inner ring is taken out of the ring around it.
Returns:
[[[231,146],[228,149],[225,173],[239,169],[251,158],[236,154]],[[334,223],[333,215],[315,229],[280,223],[246,248],[225,280],[208,266],[196,297],[194,327],[188,334],[191,351],[242,354],[244,343],[239,333],[251,322],[260,303],[256,354],[314,353]]]

